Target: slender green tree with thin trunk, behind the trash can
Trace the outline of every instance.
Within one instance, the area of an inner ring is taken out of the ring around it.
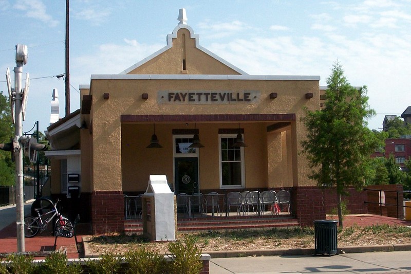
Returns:
[[[352,87],[340,63],[335,63],[327,79],[325,107],[306,109],[303,121],[307,138],[302,147],[307,154],[314,179],[320,187],[335,187],[340,227],[343,227],[342,195],[353,186],[363,188],[369,175],[370,155],[378,140],[367,127],[367,118],[375,114],[369,108],[367,88]]]

